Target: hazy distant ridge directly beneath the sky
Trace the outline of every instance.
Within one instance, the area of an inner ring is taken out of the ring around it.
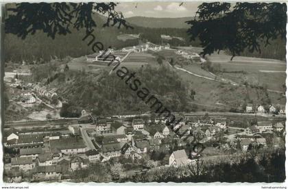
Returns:
[[[169,28],[189,28],[186,21],[191,21],[194,17],[182,17],[182,18],[154,18],[145,16],[133,16],[125,18],[128,23],[132,25],[138,25],[142,27],[169,27]]]

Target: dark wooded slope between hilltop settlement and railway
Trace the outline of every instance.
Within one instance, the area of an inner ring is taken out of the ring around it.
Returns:
[[[116,74],[109,75],[105,70],[99,73],[87,73],[84,70],[59,73],[60,67],[56,63],[35,66],[31,79],[57,87],[58,95],[68,100],[68,105],[62,108],[61,116],[80,116],[83,109],[97,116],[152,111],[125,84],[125,79],[119,79]],[[193,111],[193,107],[188,105],[191,96],[187,86],[173,69],[164,65],[155,68],[148,64],[140,68],[135,77],[141,79],[142,86],[169,110]]]

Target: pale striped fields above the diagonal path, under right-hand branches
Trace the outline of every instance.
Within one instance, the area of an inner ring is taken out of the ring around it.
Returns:
[[[198,47],[179,47],[179,49],[196,53],[201,51],[201,48]],[[286,79],[286,62],[241,56],[236,56],[230,61],[231,56],[226,55],[224,51],[220,51],[219,54],[213,53],[206,57],[212,63],[212,66],[219,66],[221,70],[221,72],[217,74],[219,77],[230,79],[239,84],[247,82],[254,86],[266,86],[269,90],[285,92],[283,84],[285,84]],[[187,71],[209,77],[209,73],[202,71],[200,66],[197,68],[197,65],[193,66],[189,64],[189,66],[184,66],[183,68]]]

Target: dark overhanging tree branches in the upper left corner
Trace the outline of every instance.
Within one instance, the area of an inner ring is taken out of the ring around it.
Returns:
[[[97,26],[95,12],[106,14],[107,21],[103,27],[121,25],[128,28],[121,12],[115,11],[117,3],[17,3],[8,8],[5,19],[5,32],[26,38],[28,34],[43,31],[55,38],[56,34],[67,35],[71,27],[85,28],[89,32]],[[37,15],[37,16],[36,16]]]

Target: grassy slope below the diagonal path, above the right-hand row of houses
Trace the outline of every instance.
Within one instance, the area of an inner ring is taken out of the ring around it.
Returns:
[[[196,77],[183,71],[176,72],[187,83],[187,90],[195,90],[195,100],[191,103],[206,105],[201,107],[202,110],[220,110],[230,108],[241,108],[241,105],[247,98],[254,103],[261,103],[260,99],[265,97],[265,92],[261,89],[250,88],[245,86],[231,86],[219,81],[212,81],[201,77]],[[269,99],[273,104],[285,104],[285,97],[276,92],[267,92]],[[199,106],[199,105],[198,105]],[[199,106],[200,107],[200,106]],[[200,111],[200,110],[198,110]]]

